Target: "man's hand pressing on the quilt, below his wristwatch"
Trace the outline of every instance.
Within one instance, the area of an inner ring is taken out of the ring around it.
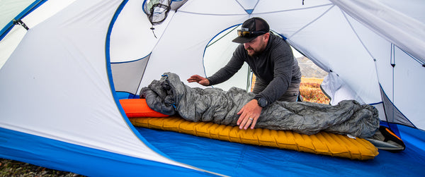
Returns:
[[[239,119],[237,119],[237,125],[239,129],[244,128],[245,130],[251,125],[251,129],[254,129],[256,121],[259,119],[261,110],[263,108],[259,106],[256,99],[252,99],[250,102],[246,103],[245,106],[237,113]]]

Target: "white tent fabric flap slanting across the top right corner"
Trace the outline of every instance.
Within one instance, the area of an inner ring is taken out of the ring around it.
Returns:
[[[386,5],[395,3],[395,1],[332,0],[332,2],[351,17],[368,26],[369,29],[378,32],[378,34],[397,45],[397,47],[425,62],[425,51],[423,49],[423,46],[425,46],[425,24],[423,23],[424,21],[421,22],[412,18],[412,16],[421,16],[423,12],[420,9],[425,8],[423,3],[417,4],[415,3],[417,1],[405,1],[405,3],[415,4],[415,6],[404,9],[403,13],[400,13],[392,9],[397,8],[397,6],[390,7]],[[404,13],[412,14],[407,16]]]

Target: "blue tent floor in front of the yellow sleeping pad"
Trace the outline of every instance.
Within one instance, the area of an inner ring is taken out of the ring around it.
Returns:
[[[358,161],[171,131],[136,129],[170,159],[227,176],[425,176],[424,149],[406,141],[402,152],[379,150],[375,159]]]

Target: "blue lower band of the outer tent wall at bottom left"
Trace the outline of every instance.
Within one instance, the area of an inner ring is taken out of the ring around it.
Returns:
[[[0,128],[0,157],[85,176],[212,176],[203,171],[128,157],[5,128]]]

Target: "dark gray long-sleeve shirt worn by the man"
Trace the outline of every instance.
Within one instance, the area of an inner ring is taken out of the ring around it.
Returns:
[[[208,77],[210,85],[216,85],[231,78],[242,68],[244,62],[251,67],[257,77],[256,81],[267,85],[257,95],[266,98],[268,104],[280,98],[291,83],[301,83],[300,67],[293,56],[292,49],[285,40],[271,33],[266,49],[256,56],[249,56],[244,45],[240,44],[229,63]]]

